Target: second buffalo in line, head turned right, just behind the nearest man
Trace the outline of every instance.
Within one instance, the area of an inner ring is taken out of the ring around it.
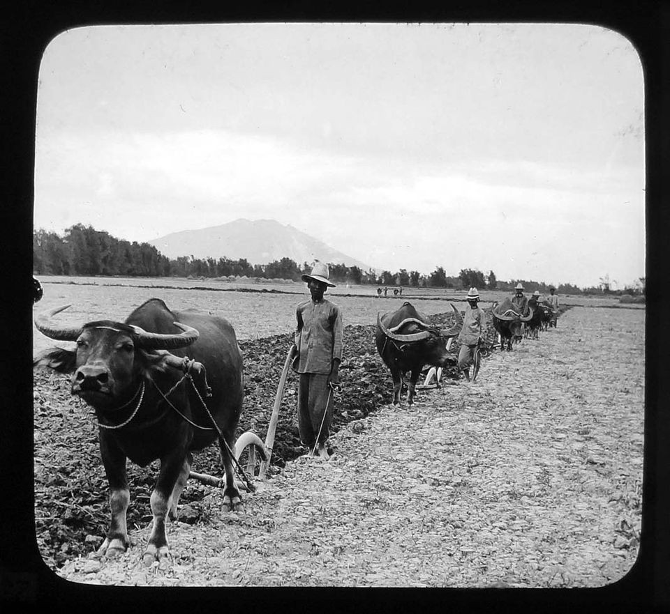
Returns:
[[[407,402],[411,405],[424,364],[442,368],[456,365],[456,356],[447,350],[447,339],[459,334],[463,318],[454,305],[452,309],[458,322],[448,330],[433,327],[429,319],[407,301],[395,312],[377,314],[375,342],[384,364],[391,369],[394,405],[400,402],[403,374],[407,371],[411,372],[407,393]]]

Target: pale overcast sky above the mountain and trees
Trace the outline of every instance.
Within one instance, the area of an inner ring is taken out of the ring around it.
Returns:
[[[638,54],[598,26],[76,29],[40,68],[34,224],[269,218],[379,269],[623,287],[643,107]]]

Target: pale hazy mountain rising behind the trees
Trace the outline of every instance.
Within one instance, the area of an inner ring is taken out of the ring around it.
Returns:
[[[275,220],[239,219],[221,226],[174,232],[147,243],[172,260],[191,255],[215,260],[225,256],[231,260],[245,258],[250,264],[267,264],[287,257],[297,264],[318,259],[364,271],[371,268],[290,224],[284,226]]]

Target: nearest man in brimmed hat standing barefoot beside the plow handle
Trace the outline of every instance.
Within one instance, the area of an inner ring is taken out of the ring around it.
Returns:
[[[299,374],[298,429],[310,454],[328,458],[325,443],[333,420],[333,391],[342,359],[342,314],[323,298],[329,282],[328,266],[315,261],[310,275],[303,275],[311,299],[296,309],[295,370]],[[317,446],[318,443],[318,446]]]

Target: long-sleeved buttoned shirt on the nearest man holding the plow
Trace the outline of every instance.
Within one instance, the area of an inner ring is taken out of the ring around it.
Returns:
[[[306,300],[295,317],[298,373],[329,374],[333,360],[342,360],[342,312],[329,300]]]

